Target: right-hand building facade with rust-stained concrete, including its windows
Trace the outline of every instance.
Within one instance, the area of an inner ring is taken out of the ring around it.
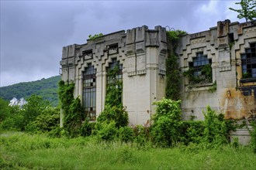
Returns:
[[[178,46],[182,111],[202,120],[207,105],[226,118],[256,117],[256,26],[217,22],[205,32],[183,36]],[[193,77],[194,76],[194,77]]]

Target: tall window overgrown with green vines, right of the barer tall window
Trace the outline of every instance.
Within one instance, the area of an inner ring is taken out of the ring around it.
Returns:
[[[106,104],[122,107],[123,96],[123,65],[116,59],[112,59],[107,68]]]

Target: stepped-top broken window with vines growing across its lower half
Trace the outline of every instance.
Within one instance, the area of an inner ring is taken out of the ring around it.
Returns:
[[[212,59],[207,59],[203,53],[196,53],[196,57],[189,63],[189,70],[184,72],[188,76],[189,83],[213,82]]]

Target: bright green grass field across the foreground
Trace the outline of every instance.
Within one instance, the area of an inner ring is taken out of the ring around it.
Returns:
[[[154,148],[21,132],[0,134],[0,145],[0,169],[256,169],[256,155],[242,146]]]

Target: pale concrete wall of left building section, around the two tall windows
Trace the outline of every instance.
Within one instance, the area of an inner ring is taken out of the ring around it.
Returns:
[[[96,115],[104,109],[106,68],[112,59],[123,64],[123,106],[130,125],[146,124],[154,114],[155,100],[164,97],[166,32],[161,26],[147,26],[113,32],[83,45],[65,46],[61,60],[62,80],[74,80],[74,96],[82,100],[82,73],[92,63],[96,73]],[[117,50],[108,50],[117,44]],[[92,55],[84,55],[92,51]],[[84,53],[84,54],[83,54]]]

